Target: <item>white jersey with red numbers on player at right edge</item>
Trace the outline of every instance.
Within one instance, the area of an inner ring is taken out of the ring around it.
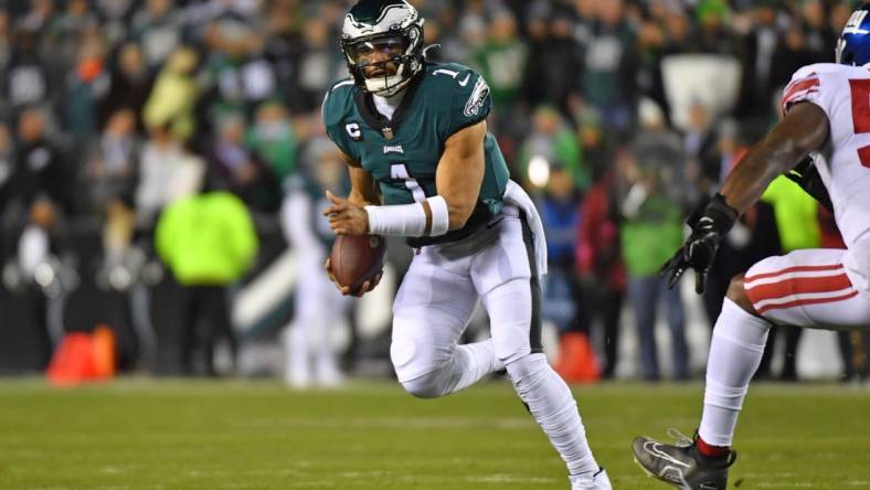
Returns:
[[[828,115],[830,139],[813,158],[846,245],[868,251],[860,269],[870,276],[870,241],[864,241],[870,238],[870,70],[834,63],[804,66],[785,87],[783,111],[799,102]]]

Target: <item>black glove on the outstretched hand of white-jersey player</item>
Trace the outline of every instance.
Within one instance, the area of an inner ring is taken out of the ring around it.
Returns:
[[[713,195],[702,213],[699,211],[692,213],[688,220],[692,233],[673,257],[661,267],[660,275],[667,278],[668,289],[673,288],[691,267],[694,269],[694,291],[702,294],[719,244],[738,220],[736,210],[725,203],[722,194]]]

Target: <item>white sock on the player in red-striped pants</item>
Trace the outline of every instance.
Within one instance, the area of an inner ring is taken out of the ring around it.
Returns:
[[[750,380],[761,363],[771,324],[725,298],[707,360],[704,408],[698,435],[711,446],[731,446]]]

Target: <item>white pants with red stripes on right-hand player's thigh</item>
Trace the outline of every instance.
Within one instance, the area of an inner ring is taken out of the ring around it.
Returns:
[[[755,311],[774,323],[820,329],[870,328],[870,298],[859,294],[846,249],[815,248],[767,257],[743,279]]]

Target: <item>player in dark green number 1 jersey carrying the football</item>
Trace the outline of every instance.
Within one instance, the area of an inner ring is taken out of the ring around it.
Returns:
[[[322,110],[351,191],[347,200],[328,194],[323,213],[337,234],[404,236],[416,251],[393,305],[400,383],[438,397],[506,369],[565,460],[571,488],[609,489],[576,402],[541,352],[543,231],[487,132],[486,82],[465,66],[427,62],[423,19],[404,0],[359,1],[341,47],[352,78],[332,86]],[[491,339],[459,345],[478,301]]]

